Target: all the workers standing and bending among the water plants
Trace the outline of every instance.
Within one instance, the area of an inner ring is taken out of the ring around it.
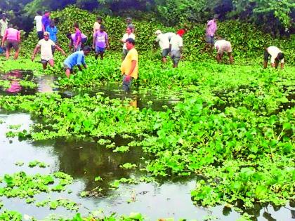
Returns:
[[[0,20],[1,47],[4,48],[4,43],[6,42],[6,59],[10,56],[11,48],[15,49],[14,58],[17,59],[20,51],[20,31],[15,29],[12,25],[8,25],[6,18],[6,14],[3,13]],[[215,48],[217,52],[216,60],[218,63],[221,62],[223,54],[228,53],[230,64],[232,64],[232,45],[230,41],[221,39],[220,36],[216,34],[218,29],[217,18],[218,17],[214,15],[214,18],[209,20],[206,24],[206,46],[203,51],[207,51],[209,48],[209,51],[212,52],[213,48]],[[50,11],[45,11],[44,15],[41,15],[41,12],[38,11],[34,20],[36,22],[36,31],[39,41],[32,53],[32,60],[34,60],[37,52],[40,50],[43,68],[46,69],[48,64],[53,67],[55,49],[66,56],[65,51],[58,46],[58,28],[55,26],[55,21],[50,18]],[[102,25],[102,22],[103,19],[98,17],[94,23],[92,42],[92,48],[96,52],[95,58],[97,59],[98,56],[100,56],[101,60],[103,60],[105,50],[110,49],[108,35],[107,32],[105,32],[105,27]],[[75,23],[73,27],[74,34],[67,33],[67,38],[70,40],[70,49],[72,49],[73,53],[63,62],[65,74],[68,78],[70,78],[74,66],[77,66],[80,70],[82,66],[84,68],[87,67],[85,56],[91,52],[91,47],[85,46],[88,38],[85,34],[81,33],[78,23]],[[126,91],[130,89],[132,80],[138,78],[138,52],[136,48],[134,48],[136,39],[134,31],[135,28],[131,18],[126,18],[126,33],[121,39],[123,43],[121,71],[123,88]],[[155,41],[159,43],[162,50],[162,62],[166,62],[166,57],[170,55],[173,61],[173,67],[178,67],[178,62],[181,60],[183,54],[183,34],[185,34],[185,30],[180,29],[176,34],[173,32],[162,33],[162,31],[157,30],[155,34],[157,36]],[[218,40],[214,41],[216,36]],[[269,57],[271,57],[270,63],[272,67],[277,67],[279,61],[281,62],[281,68],[284,67],[284,53],[276,46],[265,48],[263,62],[263,67],[265,68],[268,65]]]

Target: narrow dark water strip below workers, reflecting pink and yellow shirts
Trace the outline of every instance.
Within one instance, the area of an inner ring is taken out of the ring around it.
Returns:
[[[110,99],[120,99],[122,102],[129,99],[129,105],[134,108],[152,108],[155,111],[166,111],[166,108],[172,109],[173,106],[180,102],[178,98],[166,97],[166,98],[157,98],[157,95],[150,95],[145,93],[140,93],[134,91],[133,93],[125,93],[122,91],[121,86],[117,84],[108,84],[106,86],[100,86],[96,90],[91,91],[63,91],[54,87],[56,81],[55,76],[53,75],[42,75],[34,79],[32,71],[23,71],[23,70],[13,70],[8,74],[4,74],[2,79],[10,81],[10,87],[7,90],[4,90],[6,94],[15,94],[20,95],[34,95],[35,93],[53,93],[53,91],[58,91],[62,98],[72,98],[75,95],[81,95],[84,93],[89,94],[90,96],[96,96],[97,93],[100,93],[104,97]],[[20,85],[20,80],[33,81],[37,83],[37,88],[29,89],[24,88]]]

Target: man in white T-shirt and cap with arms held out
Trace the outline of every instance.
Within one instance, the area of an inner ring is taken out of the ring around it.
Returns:
[[[37,46],[34,49],[33,55],[32,55],[32,61],[35,58],[35,55],[37,51],[39,51],[39,48],[41,50],[41,63],[43,65],[43,69],[47,68],[47,63],[53,67],[54,66],[54,61],[53,61],[53,53],[52,53],[52,48],[56,48],[58,51],[65,54],[65,51],[63,51],[62,48],[60,48],[58,45],[56,45],[51,39],[49,39],[49,32],[44,32],[44,39],[41,39],[38,43]]]

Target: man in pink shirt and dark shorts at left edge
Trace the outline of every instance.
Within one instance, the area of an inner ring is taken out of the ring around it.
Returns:
[[[2,48],[4,47],[4,42],[6,41],[6,59],[8,60],[11,53],[11,48],[14,48],[15,55],[14,59],[18,59],[18,53],[20,53],[20,31],[13,28],[12,25],[6,29],[4,37],[2,39]]]

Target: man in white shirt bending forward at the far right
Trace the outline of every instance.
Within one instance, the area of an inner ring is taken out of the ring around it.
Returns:
[[[264,68],[268,67],[269,56],[271,67],[277,68],[277,66],[279,65],[279,61],[281,61],[281,69],[284,69],[284,53],[282,53],[279,48],[277,48],[276,46],[265,48],[263,62]]]

